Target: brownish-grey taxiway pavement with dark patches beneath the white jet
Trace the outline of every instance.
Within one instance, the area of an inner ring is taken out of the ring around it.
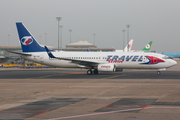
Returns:
[[[0,119],[180,119],[180,62],[154,70],[0,68]]]

